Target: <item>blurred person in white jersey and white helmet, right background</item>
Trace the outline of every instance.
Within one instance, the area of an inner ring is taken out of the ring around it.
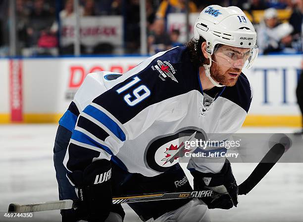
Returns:
[[[289,23],[279,22],[276,9],[266,9],[264,19],[257,27],[257,45],[260,53],[294,52],[292,32],[293,27]]]

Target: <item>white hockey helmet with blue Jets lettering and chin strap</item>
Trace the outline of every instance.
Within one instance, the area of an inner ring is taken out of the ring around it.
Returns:
[[[245,13],[236,6],[221,7],[209,5],[202,10],[194,27],[194,37],[203,37],[206,40],[206,52],[210,60],[209,65],[203,65],[206,76],[215,86],[216,83],[210,76],[211,55],[217,44],[230,45],[240,48],[251,48],[243,68],[251,68],[257,57],[256,32],[253,24]]]

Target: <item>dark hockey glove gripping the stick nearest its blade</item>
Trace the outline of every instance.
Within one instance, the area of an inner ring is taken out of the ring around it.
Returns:
[[[225,160],[220,173],[212,174],[193,171],[191,174],[194,176],[195,190],[211,189],[217,193],[212,197],[202,198],[209,209],[237,207],[238,185],[228,159]]]

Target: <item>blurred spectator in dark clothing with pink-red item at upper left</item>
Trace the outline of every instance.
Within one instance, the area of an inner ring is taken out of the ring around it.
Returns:
[[[44,8],[44,0],[35,0],[34,8],[29,15],[27,25],[27,46],[55,47],[57,39],[50,28],[54,22],[54,15]]]

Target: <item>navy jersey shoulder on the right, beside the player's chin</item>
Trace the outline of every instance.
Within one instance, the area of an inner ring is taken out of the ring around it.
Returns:
[[[252,90],[246,75],[241,73],[237,83],[234,86],[225,87],[220,96],[232,101],[248,112],[252,102]]]

